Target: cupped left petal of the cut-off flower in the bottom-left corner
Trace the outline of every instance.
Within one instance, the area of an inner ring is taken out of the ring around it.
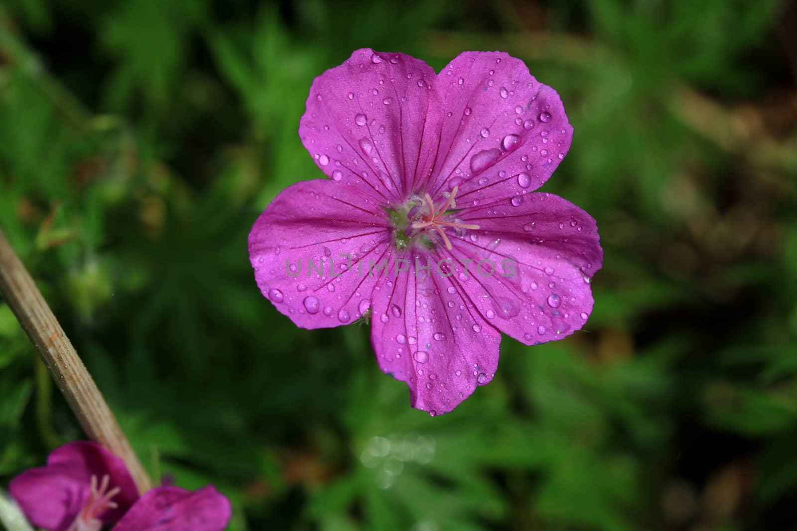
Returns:
[[[124,461],[97,443],[75,441],[56,448],[46,467],[19,474],[9,490],[33,525],[62,531],[73,523],[88,499],[92,475],[99,482],[106,474],[111,488],[120,487],[113,498],[118,507],[102,516],[108,524],[132,506],[138,491]]]

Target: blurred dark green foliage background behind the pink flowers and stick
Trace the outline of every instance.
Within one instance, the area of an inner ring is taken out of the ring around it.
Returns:
[[[233,531],[797,529],[797,6],[0,0],[0,226],[159,478]],[[595,312],[505,339],[454,412],[367,326],[298,330],[246,235],[321,174],[315,76],[371,46],[520,57],[575,127]],[[0,485],[80,438],[0,301]]]

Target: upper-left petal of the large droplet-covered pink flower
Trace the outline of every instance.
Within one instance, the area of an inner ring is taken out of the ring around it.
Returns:
[[[328,177],[404,199],[433,163],[442,121],[437,83],[414,57],[355,50],[313,81],[302,143]]]

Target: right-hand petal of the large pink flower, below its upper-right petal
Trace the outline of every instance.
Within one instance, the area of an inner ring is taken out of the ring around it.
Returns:
[[[477,239],[454,240],[458,260],[476,260],[462,283],[490,325],[532,345],[579,330],[592,310],[590,279],[603,261],[595,220],[551,193],[528,193],[466,209]]]

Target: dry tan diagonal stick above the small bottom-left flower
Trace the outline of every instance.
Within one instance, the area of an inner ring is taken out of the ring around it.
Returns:
[[[143,494],[151,483],[41,292],[0,230],[0,293],[14,311],[86,435],[118,455]]]

